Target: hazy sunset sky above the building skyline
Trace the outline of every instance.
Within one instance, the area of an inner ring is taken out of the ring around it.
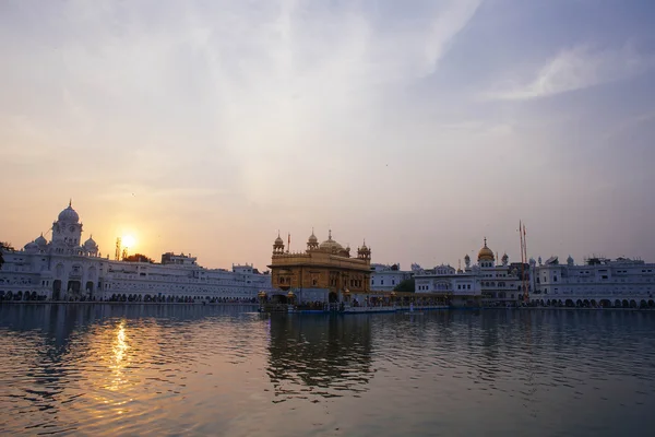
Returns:
[[[0,240],[655,262],[650,0],[0,1]],[[355,250],[354,250],[355,251]]]

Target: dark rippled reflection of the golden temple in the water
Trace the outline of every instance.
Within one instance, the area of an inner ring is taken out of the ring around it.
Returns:
[[[269,366],[276,395],[361,392],[372,378],[370,319],[359,316],[270,316]]]

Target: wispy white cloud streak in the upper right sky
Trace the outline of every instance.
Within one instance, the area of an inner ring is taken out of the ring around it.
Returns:
[[[655,66],[655,57],[640,54],[628,44],[618,49],[577,46],[560,51],[524,84],[499,87],[487,98],[520,101],[546,97],[569,91],[632,78]]]

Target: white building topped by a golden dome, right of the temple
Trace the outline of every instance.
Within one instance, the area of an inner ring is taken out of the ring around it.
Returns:
[[[497,264],[486,238],[477,261],[472,265],[471,257],[466,255],[464,270],[450,265],[420,270],[415,275],[416,293],[448,293],[452,296],[452,305],[515,304],[522,297],[520,269],[509,264],[507,253],[501,258],[501,264]]]

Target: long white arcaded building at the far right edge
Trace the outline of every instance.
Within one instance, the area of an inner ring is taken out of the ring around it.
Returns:
[[[618,258],[590,258],[577,265],[569,257],[551,257],[539,265],[531,260],[529,299],[541,305],[655,307],[655,263]]]

